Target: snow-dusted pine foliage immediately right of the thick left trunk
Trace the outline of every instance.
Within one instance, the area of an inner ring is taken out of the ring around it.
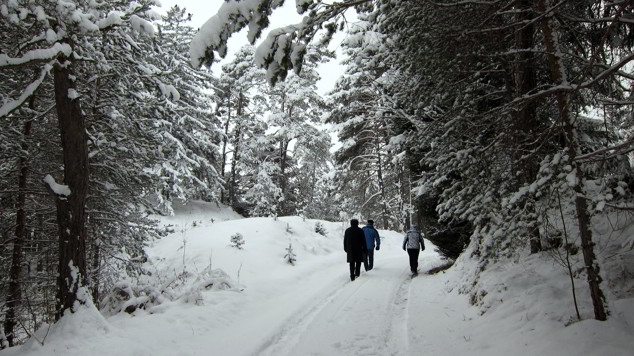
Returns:
[[[141,5],[141,4],[140,4]],[[127,11],[126,4],[113,10]],[[127,276],[140,273],[144,243],[157,236],[147,186],[158,185],[150,172],[159,156],[157,131],[143,118],[152,110],[141,85],[140,70],[152,53],[153,21],[147,3],[130,16],[135,26],[116,25],[95,39],[98,61],[80,67],[82,77],[93,78],[80,88],[84,95],[89,137],[90,199],[87,254],[95,302]]]

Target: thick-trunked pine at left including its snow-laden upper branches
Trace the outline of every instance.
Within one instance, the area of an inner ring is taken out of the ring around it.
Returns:
[[[3,23],[11,27],[10,32],[16,41],[26,44],[19,46],[20,52],[3,53],[5,60],[2,66],[8,70],[29,68],[31,73],[38,74],[28,86],[18,87],[21,93],[5,101],[0,108],[0,116],[11,115],[26,107],[33,93],[45,89],[46,83],[50,83],[49,78],[52,78],[53,83],[52,90],[46,96],[54,99],[55,105],[42,114],[51,109],[57,113],[64,162],[63,179],[54,173],[55,177],[49,180],[56,197],[60,241],[57,316],[75,302],[87,302],[78,294],[79,289],[87,285],[85,223],[89,186],[86,117],[80,105],[84,99],[81,88],[89,81],[82,76],[82,67],[90,61],[76,59],[92,58],[98,61],[101,53],[95,42],[113,27],[131,22],[142,27],[144,22],[136,13],[149,10],[151,3],[142,1],[136,4],[123,13],[117,13],[111,12],[113,8],[109,4],[87,1],[70,1],[64,6],[45,1],[28,4],[16,1],[2,11],[2,17],[6,20]],[[78,18],[81,20],[78,21]],[[43,117],[42,114],[40,117]],[[54,179],[68,186],[68,197],[60,197],[59,193],[63,190],[53,185]],[[75,280],[74,276],[81,280]]]

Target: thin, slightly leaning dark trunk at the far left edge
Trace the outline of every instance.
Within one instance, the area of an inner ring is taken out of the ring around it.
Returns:
[[[30,100],[29,106],[33,109],[33,98]],[[28,152],[28,138],[31,136],[32,121],[29,120],[24,124],[23,142],[21,145],[22,152]],[[22,248],[24,247],[24,237],[26,231],[26,183],[29,175],[28,157],[22,155],[18,161],[18,200],[15,222],[15,236],[13,239],[13,254],[11,259],[11,268],[9,269],[9,290],[7,294],[6,314],[4,318],[4,331],[9,346],[13,346],[14,329],[17,325],[17,309],[22,299]]]

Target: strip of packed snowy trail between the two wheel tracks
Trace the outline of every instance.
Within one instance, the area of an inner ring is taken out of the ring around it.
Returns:
[[[405,355],[411,288],[406,257],[377,266],[286,322],[258,355]]]

